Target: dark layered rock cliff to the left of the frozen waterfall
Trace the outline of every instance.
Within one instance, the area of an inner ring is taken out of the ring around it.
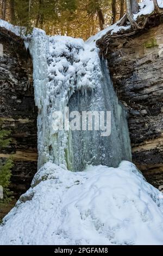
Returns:
[[[11,144],[1,159],[13,155],[11,190],[15,198],[27,191],[37,170],[37,109],[32,60],[23,41],[0,28],[0,122],[11,131]]]

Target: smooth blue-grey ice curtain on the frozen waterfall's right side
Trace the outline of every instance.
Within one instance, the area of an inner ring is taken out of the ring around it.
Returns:
[[[101,131],[72,131],[68,139],[68,156],[73,157],[68,169],[83,170],[85,164],[103,164],[117,167],[122,160],[131,160],[130,139],[128,132],[126,109],[118,103],[117,96],[110,80],[108,68],[101,60],[102,79],[95,90],[86,95],[76,92],[68,101],[71,111],[111,111],[111,134],[101,136]]]

